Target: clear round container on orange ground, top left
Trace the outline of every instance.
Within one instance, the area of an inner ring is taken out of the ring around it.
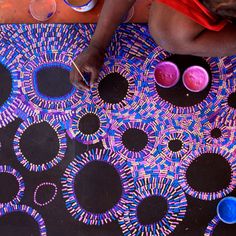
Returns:
[[[31,0],[29,5],[30,14],[38,21],[49,20],[56,12],[55,0]]]

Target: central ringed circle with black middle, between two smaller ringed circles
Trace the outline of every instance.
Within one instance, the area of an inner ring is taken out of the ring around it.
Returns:
[[[122,120],[113,124],[103,144],[127,160],[142,161],[156,152],[161,128],[150,120]]]

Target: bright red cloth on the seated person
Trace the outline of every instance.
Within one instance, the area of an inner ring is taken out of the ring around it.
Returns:
[[[199,0],[157,0],[176,11],[183,13],[193,21],[212,31],[220,31],[228,23],[226,20],[219,20]]]

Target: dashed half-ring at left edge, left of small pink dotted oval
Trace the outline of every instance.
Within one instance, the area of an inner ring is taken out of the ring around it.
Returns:
[[[24,191],[25,191],[25,183],[24,183],[23,177],[21,176],[21,174],[17,170],[13,169],[11,166],[6,166],[6,165],[0,166],[0,174],[1,173],[7,173],[7,174],[14,176],[19,184],[19,190],[18,190],[16,196],[11,201],[9,201],[7,203],[0,202],[0,208],[4,207],[6,205],[14,205],[14,204],[20,203],[21,199],[24,196]]]

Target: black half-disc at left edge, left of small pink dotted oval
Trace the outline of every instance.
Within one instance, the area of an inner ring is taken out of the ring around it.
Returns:
[[[0,203],[8,203],[15,198],[19,190],[16,177],[9,173],[0,173]]]

